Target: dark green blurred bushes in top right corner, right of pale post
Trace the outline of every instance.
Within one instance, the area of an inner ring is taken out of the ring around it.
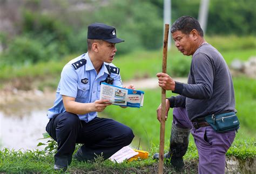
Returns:
[[[210,1],[208,34],[256,34],[256,11],[254,0]]]

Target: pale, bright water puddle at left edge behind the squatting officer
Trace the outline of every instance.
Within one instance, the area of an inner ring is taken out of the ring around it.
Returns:
[[[37,147],[38,140],[45,133],[45,126],[49,119],[46,117],[45,110],[32,110],[22,117],[21,115],[5,115],[0,112],[0,148],[15,150],[44,149],[43,146]]]

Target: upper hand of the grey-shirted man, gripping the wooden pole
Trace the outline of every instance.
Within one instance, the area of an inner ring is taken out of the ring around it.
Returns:
[[[158,85],[165,89],[174,91],[175,89],[175,81],[168,74],[165,73],[157,73],[158,77]]]

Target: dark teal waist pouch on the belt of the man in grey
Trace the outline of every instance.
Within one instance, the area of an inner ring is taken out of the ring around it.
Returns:
[[[218,133],[239,129],[239,120],[234,112],[207,115],[205,120]]]

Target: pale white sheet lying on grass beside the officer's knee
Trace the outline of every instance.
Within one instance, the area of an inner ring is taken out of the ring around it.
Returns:
[[[129,146],[125,146],[113,154],[109,159],[113,162],[116,161],[117,163],[122,163],[125,159],[129,159],[138,154],[137,151],[132,150]]]

